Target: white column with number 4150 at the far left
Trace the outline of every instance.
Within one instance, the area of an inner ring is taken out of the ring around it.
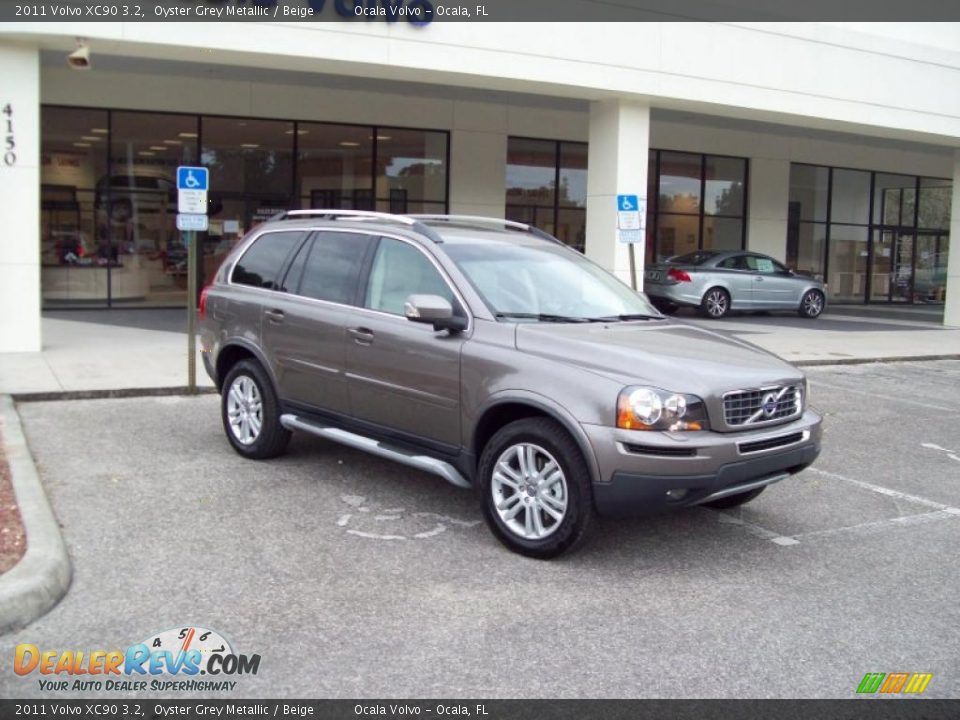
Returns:
[[[0,43],[0,352],[40,350],[40,52]],[[9,107],[10,114],[5,110]],[[13,140],[13,147],[9,139]]]

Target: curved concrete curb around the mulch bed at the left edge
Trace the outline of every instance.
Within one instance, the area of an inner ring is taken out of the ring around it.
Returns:
[[[52,609],[66,594],[73,573],[60,526],[9,395],[0,395],[0,431],[27,535],[27,551],[20,562],[0,575],[0,633],[7,633]]]

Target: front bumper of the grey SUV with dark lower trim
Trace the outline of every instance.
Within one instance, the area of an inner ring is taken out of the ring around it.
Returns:
[[[585,426],[600,482],[602,515],[634,515],[697,505],[782,480],[820,454],[821,418],[737,433],[648,433]]]

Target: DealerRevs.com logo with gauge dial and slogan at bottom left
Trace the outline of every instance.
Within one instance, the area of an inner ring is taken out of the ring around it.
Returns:
[[[39,674],[46,691],[231,691],[234,677],[257,674],[260,656],[235,653],[215,630],[186,626],[126,650],[41,650],[23,643],[14,650],[13,669],[23,677]]]

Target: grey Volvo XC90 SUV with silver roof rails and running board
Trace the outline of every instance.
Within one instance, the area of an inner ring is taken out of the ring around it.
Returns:
[[[820,452],[798,370],[520,223],[290,211],[227,257],[200,314],[238,453],[302,431],[475,487],[532,557],[596,513],[740,505]]]

